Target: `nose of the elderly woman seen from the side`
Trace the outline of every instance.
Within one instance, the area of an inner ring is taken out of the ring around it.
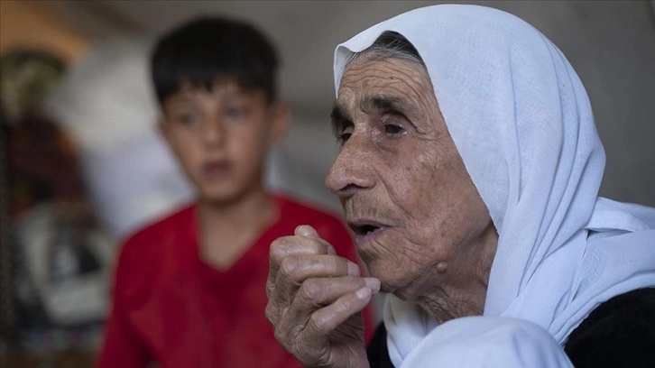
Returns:
[[[339,197],[374,187],[374,157],[355,134],[344,144],[328,171],[325,183]]]

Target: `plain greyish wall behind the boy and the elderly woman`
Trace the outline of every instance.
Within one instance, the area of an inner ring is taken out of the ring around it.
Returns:
[[[336,154],[328,114],[334,98],[332,52],[355,32],[436,1],[59,2],[61,14],[96,39],[156,34],[196,14],[257,23],[283,59],[281,96],[295,111],[275,152],[272,185],[329,207],[323,186]],[[474,1],[516,14],[564,51],[586,86],[607,152],[601,194],[655,207],[655,15],[648,1]],[[82,6],[83,5],[83,6]],[[276,170],[277,170],[276,169]],[[291,177],[289,177],[291,176]]]

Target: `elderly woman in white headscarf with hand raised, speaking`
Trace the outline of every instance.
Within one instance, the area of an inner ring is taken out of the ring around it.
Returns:
[[[655,362],[655,210],[597,197],[591,106],[545,36],[494,9],[421,8],[339,45],[335,84],[326,183],[373,277],[309,226],[272,244],[266,314],[300,362]],[[380,290],[367,355],[358,312]]]

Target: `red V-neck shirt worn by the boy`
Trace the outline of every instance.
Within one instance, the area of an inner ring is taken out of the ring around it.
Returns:
[[[124,244],[99,367],[300,367],[264,316],[269,245],[312,225],[337,253],[357,262],[335,216],[274,197],[279,219],[227,271],[200,261],[195,206],[144,228]],[[368,311],[366,341],[372,333]]]

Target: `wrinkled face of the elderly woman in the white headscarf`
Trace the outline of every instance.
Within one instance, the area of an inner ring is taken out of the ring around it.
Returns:
[[[478,267],[466,247],[491,219],[427,72],[409,60],[355,61],[341,79],[332,118],[342,146],[326,184],[383,291],[415,299],[443,287],[440,262]]]

